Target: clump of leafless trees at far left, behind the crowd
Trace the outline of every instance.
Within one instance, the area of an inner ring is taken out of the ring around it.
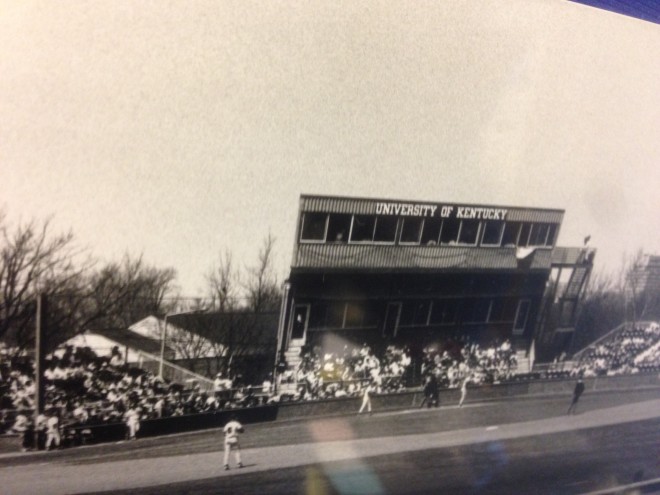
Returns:
[[[0,339],[16,352],[34,345],[38,295],[47,301],[46,348],[91,325],[123,326],[164,311],[175,272],[125,256],[95,270],[71,232],[51,234],[50,219],[9,226],[0,217]]]

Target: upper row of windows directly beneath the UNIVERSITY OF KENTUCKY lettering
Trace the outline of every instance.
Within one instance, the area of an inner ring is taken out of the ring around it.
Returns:
[[[558,224],[346,213],[303,213],[301,242],[552,247]]]

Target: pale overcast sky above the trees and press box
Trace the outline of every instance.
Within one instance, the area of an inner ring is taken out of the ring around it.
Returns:
[[[660,254],[660,27],[561,0],[0,0],[0,208],[176,268],[301,193],[566,210],[597,270]]]

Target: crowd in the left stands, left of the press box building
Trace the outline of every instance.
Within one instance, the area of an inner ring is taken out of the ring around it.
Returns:
[[[127,426],[127,438],[135,438],[144,420],[256,403],[251,387],[232,388],[230,382],[230,393],[217,388],[207,393],[198,384],[185,389],[127,365],[118,348],[101,357],[89,348],[66,346],[46,358],[45,414],[34,425],[34,363],[9,359],[6,354],[0,358],[0,433],[45,430],[48,420],[56,416],[63,432],[76,435],[71,441],[84,441],[94,426],[122,422]],[[63,440],[67,440],[66,435]]]

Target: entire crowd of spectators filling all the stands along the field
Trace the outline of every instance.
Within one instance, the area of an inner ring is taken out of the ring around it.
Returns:
[[[127,438],[138,435],[140,422],[244,408],[285,400],[355,397],[368,387],[374,393],[397,392],[412,383],[413,362],[406,347],[388,346],[377,355],[368,345],[346,346],[341,352],[308,348],[297,369],[283,370],[259,386],[218,373],[208,392],[185,388],[124,362],[118,348],[99,356],[85,347],[65,346],[47,356],[43,372],[45,414],[33,423],[34,363],[25,357],[10,359],[0,349],[0,433],[42,433],[41,447],[59,444],[49,431],[75,431],[72,442],[82,442],[92,427],[124,423]],[[581,376],[618,375],[660,370],[660,325],[623,329],[583,353],[570,371]],[[417,382],[437,388],[460,388],[501,383],[515,378],[516,353],[511,342],[479,345],[448,339],[423,351]],[[562,377],[564,377],[562,375]],[[550,378],[550,375],[539,376]],[[277,392],[277,393],[276,393]],[[57,418],[57,419],[53,419]],[[52,425],[56,424],[56,427]],[[49,430],[50,425],[50,430]],[[24,447],[29,447],[26,441]]]

